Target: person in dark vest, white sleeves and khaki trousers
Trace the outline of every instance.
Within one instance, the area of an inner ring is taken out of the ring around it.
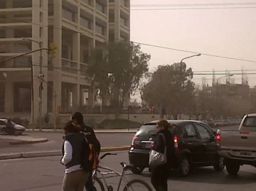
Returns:
[[[65,165],[65,175],[62,190],[83,191],[90,174],[89,146],[84,134],[75,129],[72,121],[65,124],[63,130],[65,141],[62,148],[63,158],[61,158],[61,163]]]

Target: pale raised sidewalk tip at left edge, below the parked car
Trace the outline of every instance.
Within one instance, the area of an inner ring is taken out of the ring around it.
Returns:
[[[0,136],[0,141],[11,145],[23,145],[33,143],[46,143],[48,138],[34,138],[32,136]]]

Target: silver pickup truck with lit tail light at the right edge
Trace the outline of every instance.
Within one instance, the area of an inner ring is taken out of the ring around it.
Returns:
[[[245,115],[238,130],[218,130],[216,137],[230,175],[238,174],[240,165],[256,167],[256,114]]]

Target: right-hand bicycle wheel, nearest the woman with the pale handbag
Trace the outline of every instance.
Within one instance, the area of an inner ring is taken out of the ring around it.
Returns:
[[[153,189],[143,180],[134,179],[127,182],[124,191],[153,191]]]

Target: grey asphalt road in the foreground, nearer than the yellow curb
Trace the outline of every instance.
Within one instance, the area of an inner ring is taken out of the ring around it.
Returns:
[[[128,161],[127,152],[105,158],[102,165],[121,170],[119,161]],[[55,191],[60,190],[63,180],[63,166],[59,157],[33,158],[0,161],[1,191]],[[175,191],[254,191],[256,187],[256,169],[242,166],[236,177],[230,177],[225,170],[216,173],[213,168],[200,168],[187,178],[169,178],[169,190]],[[150,174],[133,175],[127,172],[126,178],[139,178],[150,183]],[[107,182],[117,187],[117,177],[107,178]],[[139,189],[138,191],[141,191]],[[137,190],[135,190],[137,191]]]

